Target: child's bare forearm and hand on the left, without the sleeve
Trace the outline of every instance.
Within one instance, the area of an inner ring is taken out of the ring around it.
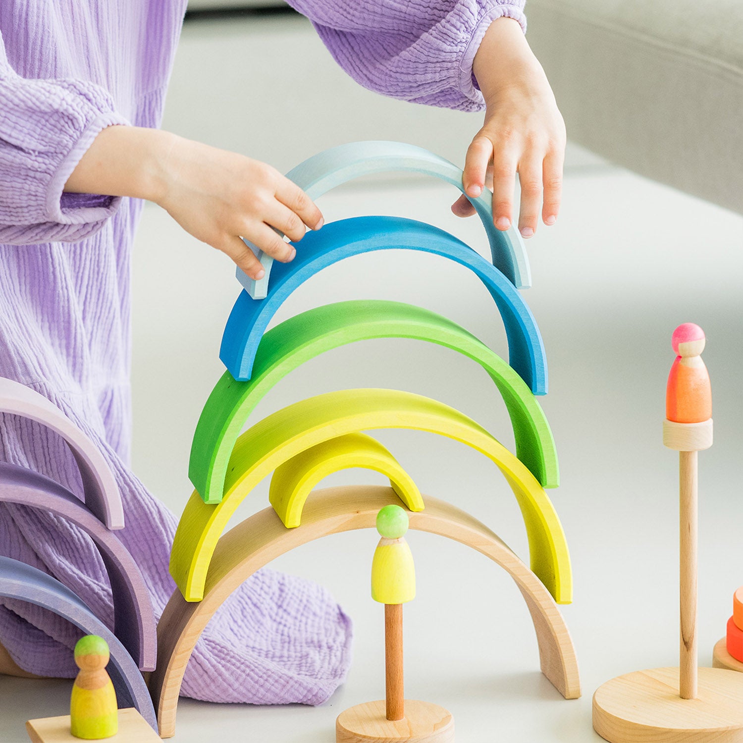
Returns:
[[[322,227],[322,214],[311,199],[272,167],[158,129],[103,129],[80,158],[65,191],[154,201],[253,279],[265,272],[240,236],[286,262],[294,249],[271,227],[294,241],[302,239],[305,224],[313,230]]]

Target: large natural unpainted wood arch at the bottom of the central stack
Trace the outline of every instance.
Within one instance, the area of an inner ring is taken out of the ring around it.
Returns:
[[[220,539],[207,577],[204,600],[189,603],[176,590],[158,624],[158,668],[149,680],[160,736],[175,735],[175,713],[186,663],[195,643],[224,600],[256,570],[299,545],[329,534],[374,528],[380,508],[400,503],[389,487],[366,485],[316,490],[302,526],[286,529],[273,508],[245,519]],[[410,528],[445,536],[501,565],[527,603],[539,643],[542,672],[567,699],[580,696],[573,643],[557,605],[529,568],[490,531],[463,510],[426,496],[426,509],[409,513]]]

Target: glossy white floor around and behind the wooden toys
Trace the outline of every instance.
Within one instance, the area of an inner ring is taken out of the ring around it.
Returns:
[[[302,65],[279,65],[284,54]],[[268,108],[259,108],[266,100]],[[325,146],[363,138],[408,140],[461,162],[477,121],[362,91],[334,68],[305,22],[269,19],[186,27],[164,126],[289,169]],[[374,213],[429,221],[485,253],[481,225],[448,212],[453,195],[429,181],[374,181],[338,189],[319,206],[326,221]],[[562,485],[550,495],[574,566],[574,604],[562,611],[583,698],[564,701],[539,673],[528,611],[505,574],[461,545],[411,533],[418,597],[406,608],[406,690],[451,710],[460,743],[600,740],[591,730],[596,687],[623,672],[676,662],[676,457],[661,444],[661,421],[670,334],[680,322],[698,322],[707,332],[715,403],[716,444],[700,455],[704,665],[743,583],[743,219],[572,149],[562,215],[528,249],[534,285],[525,298],[550,363],[550,394],[541,402],[562,470]],[[134,470],[176,513],[191,490],[190,438],[222,371],[218,346],[238,290],[226,259],[157,207],[146,209],[134,263]],[[502,322],[473,276],[412,253],[371,254],[331,267],[296,291],[276,320],[358,297],[425,306],[506,353]],[[276,386],[251,422],[309,395],[363,386],[438,398],[513,444],[481,369],[444,348],[403,340],[351,345],[313,360]],[[516,503],[489,461],[422,433],[380,438],[424,493],[474,513],[526,557]],[[331,481],[351,478],[380,481],[356,471]],[[265,507],[266,490],[264,483],[238,516]],[[175,740],[330,742],[340,711],[380,698],[382,617],[368,594],[375,543],[371,531],[349,533],[274,563],[328,585],[354,617],[354,663],[328,704],[183,699]],[[0,740],[24,740],[29,717],[62,714],[68,690],[68,682],[0,678]]]

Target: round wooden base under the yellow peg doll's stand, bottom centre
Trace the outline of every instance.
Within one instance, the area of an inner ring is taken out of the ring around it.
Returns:
[[[385,701],[368,701],[348,707],[335,721],[336,743],[451,743],[454,718],[427,701],[405,700],[405,717],[386,718]]]

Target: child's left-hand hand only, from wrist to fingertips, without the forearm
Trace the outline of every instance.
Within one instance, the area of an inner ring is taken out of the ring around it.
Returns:
[[[264,270],[244,237],[281,262],[295,250],[305,226],[322,227],[322,214],[307,194],[271,166],[235,152],[175,137],[155,198],[195,238],[227,253],[252,279]]]

